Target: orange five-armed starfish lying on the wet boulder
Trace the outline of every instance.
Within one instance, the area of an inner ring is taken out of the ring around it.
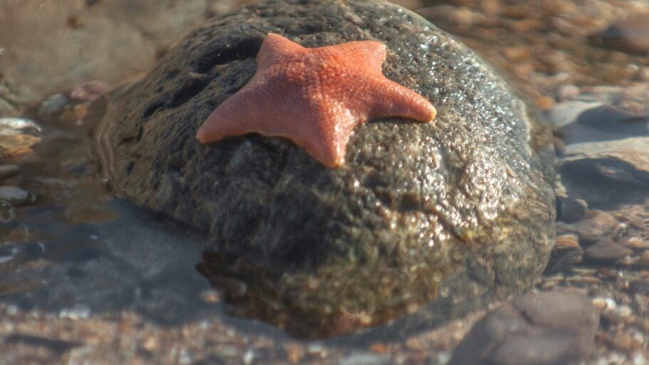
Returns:
[[[387,79],[386,47],[354,41],[305,48],[269,33],[246,85],[218,105],[201,125],[201,143],[248,133],[285,137],[325,166],[344,162],[354,127],[376,117],[431,122],[428,100]]]

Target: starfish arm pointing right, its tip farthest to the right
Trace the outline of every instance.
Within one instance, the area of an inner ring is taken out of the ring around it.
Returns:
[[[371,90],[369,117],[406,117],[420,122],[432,122],[437,110],[418,93],[385,78],[376,80]]]

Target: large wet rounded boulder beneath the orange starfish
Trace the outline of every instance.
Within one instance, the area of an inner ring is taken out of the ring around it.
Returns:
[[[214,252],[199,270],[246,288],[226,294],[236,314],[297,334],[371,326],[433,298],[428,321],[442,322],[531,287],[554,242],[547,130],[480,58],[416,14],[385,1],[305,4],[217,18],[94,102],[112,189],[209,232]],[[281,138],[199,144],[196,129],[253,75],[269,32],[307,47],[385,43],[384,73],[428,97],[435,122],[360,125],[340,169]]]

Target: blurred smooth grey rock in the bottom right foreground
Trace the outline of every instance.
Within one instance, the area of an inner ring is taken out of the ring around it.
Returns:
[[[589,297],[561,291],[524,295],[477,322],[449,364],[579,364],[595,349],[598,325]]]

